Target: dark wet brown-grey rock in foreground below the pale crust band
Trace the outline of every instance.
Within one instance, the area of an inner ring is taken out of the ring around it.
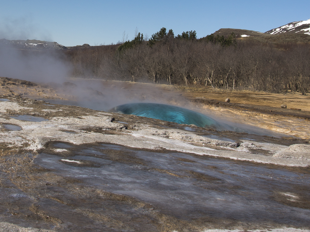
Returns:
[[[203,231],[308,228],[310,222],[308,168],[61,141],[37,155],[1,158],[0,220],[18,225]]]

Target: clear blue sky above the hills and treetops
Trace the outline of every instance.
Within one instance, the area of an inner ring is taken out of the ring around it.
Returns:
[[[196,30],[204,37],[220,28],[265,32],[310,18],[310,1],[1,1],[0,39],[56,41],[64,46],[148,37],[160,28],[175,35]]]

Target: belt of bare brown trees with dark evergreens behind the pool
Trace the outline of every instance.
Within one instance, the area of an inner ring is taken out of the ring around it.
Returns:
[[[132,41],[113,46],[68,54],[73,75],[268,92],[286,89],[303,95],[310,90],[309,45],[237,44],[233,33],[197,39],[195,31],[175,36],[162,28],[148,41],[138,33]]]

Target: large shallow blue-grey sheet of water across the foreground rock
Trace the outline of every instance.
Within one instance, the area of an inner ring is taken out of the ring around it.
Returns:
[[[35,163],[50,173],[78,179],[81,191],[92,186],[135,197],[180,220],[225,218],[242,223],[310,224],[309,172],[299,174],[281,167],[115,144],[73,146],[59,142],[50,146],[66,148],[73,156],[40,153]],[[63,191],[61,194],[64,202],[70,198]],[[91,199],[92,193],[88,194]],[[294,201],[291,195],[296,196]],[[82,205],[87,208],[87,204]],[[91,207],[94,211],[100,208]],[[65,224],[71,219],[61,220]]]

